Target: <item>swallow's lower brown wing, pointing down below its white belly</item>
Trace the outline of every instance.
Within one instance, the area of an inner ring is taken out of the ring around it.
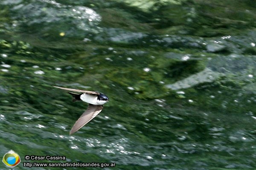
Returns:
[[[80,118],[76,121],[73,125],[72,129],[70,130],[70,135],[75,133],[77,130],[81,129],[84,125],[86,125],[90,120],[95,118],[101,111],[103,105],[92,105],[89,104],[87,110],[80,116]]]

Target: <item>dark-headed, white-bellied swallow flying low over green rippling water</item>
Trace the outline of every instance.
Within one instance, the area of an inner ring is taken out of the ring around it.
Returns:
[[[79,119],[71,128],[70,135],[75,133],[77,130],[81,129],[81,127],[83,127],[93,118],[95,118],[102,111],[103,105],[106,102],[108,102],[108,96],[96,91],[85,91],[74,88],[62,88],[58,86],[53,87],[68,91],[68,93],[73,96],[73,102],[83,101],[89,103],[87,110],[79,117]],[[79,94],[72,93],[70,91],[79,92]]]

